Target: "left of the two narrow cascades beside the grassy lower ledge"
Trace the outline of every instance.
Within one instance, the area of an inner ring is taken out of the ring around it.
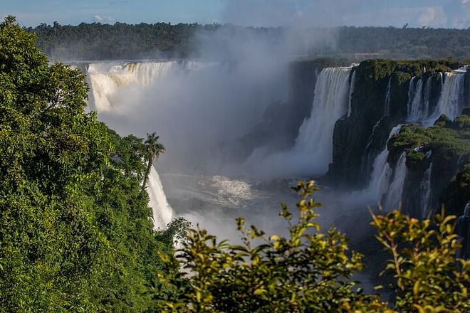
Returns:
[[[402,125],[393,127],[388,136],[388,140],[390,140],[393,135],[397,134],[401,128]],[[382,196],[387,192],[390,184],[392,167],[390,167],[390,164],[388,164],[387,159],[388,149],[387,144],[385,144],[382,152],[380,152],[380,154],[374,160],[374,164],[372,166],[372,175],[370,176],[370,183],[369,187],[367,188],[367,191],[372,193],[375,201],[381,200]]]

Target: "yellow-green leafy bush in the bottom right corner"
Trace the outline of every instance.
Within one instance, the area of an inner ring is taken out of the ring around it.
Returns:
[[[461,247],[455,216],[416,218],[392,211],[372,215],[377,240],[390,252],[386,272],[399,312],[469,312],[470,260],[456,258]]]

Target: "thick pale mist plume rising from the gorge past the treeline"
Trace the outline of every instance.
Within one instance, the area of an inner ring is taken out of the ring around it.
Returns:
[[[325,39],[324,33],[309,36],[310,42],[296,47],[294,39],[299,36],[283,28],[224,26],[215,32],[199,31],[192,62],[174,61],[159,73],[142,69],[140,75],[148,76],[143,84],[119,78],[118,87],[104,97],[111,107],[91,107],[120,134],[144,137],[157,132],[167,147],[159,161],[162,171],[247,174],[246,167],[226,164],[221,156],[230,154],[231,144],[263,121],[269,105],[286,105],[291,61],[312,48],[316,39]],[[96,102],[98,86],[109,85],[116,68],[113,63],[91,67],[91,102]]]

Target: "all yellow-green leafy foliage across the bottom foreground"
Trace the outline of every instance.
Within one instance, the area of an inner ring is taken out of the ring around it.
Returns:
[[[164,262],[182,272],[167,279],[175,286],[161,298],[164,312],[466,312],[470,261],[456,260],[459,241],[454,217],[438,214],[417,221],[392,211],[373,215],[377,239],[392,255],[385,272],[394,277],[395,303],[365,295],[350,277],[362,269],[361,255],[350,251],[345,236],[322,232],[315,218],[320,206],[311,198],[313,182],[296,187],[298,218],[283,205],[279,214],[288,236],[267,236],[237,221],[242,244],[218,241],[206,230],[190,230],[174,258]],[[189,272],[187,275],[185,273]]]

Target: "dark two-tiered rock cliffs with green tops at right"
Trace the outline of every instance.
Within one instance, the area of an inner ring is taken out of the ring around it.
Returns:
[[[470,71],[449,74],[459,66],[445,60],[360,63],[355,68],[350,115],[335,124],[333,163],[326,181],[351,189],[365,188],[374,160],[387,144],[392,127],[410,122],[429,127],[430,122],[437,120],[429,129],[417,125],[402,127],[388,143],[387,162],[393,176],[400,155],[406,152],[404,211],[424,218],[444,203],[452,207],[451,213],[460,213],[454,210],[470,201],[464,171],[470,162],[470,134],[466,128],[470,109],[464,109],[455,122],[445,116],[437,119],[442,110],[449,110],[449,105],[454,106],[457,115],[462,107],[470,107]],[[454,83],[461,82],[456,75],[464,75],[463,84]],[[449,194],[452,196],[446,196]]]

